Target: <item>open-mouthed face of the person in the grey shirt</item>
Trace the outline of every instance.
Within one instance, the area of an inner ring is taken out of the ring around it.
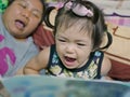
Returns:
[[[26,38],[39,25],[42,18],[40,0],[14,0],[5,10],[3,22],[15,38]]]

